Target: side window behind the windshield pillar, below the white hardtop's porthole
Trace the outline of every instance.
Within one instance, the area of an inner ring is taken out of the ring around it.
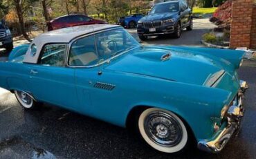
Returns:
[[[39,64],[46,66],[65,66],[66,44],[46,44],[42,49]]]

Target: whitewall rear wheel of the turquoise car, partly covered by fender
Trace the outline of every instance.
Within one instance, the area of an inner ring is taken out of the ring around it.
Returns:
[[[15,91],[15,96],[24,109],[35,109],[35,107],[40,104],[24,91]]]

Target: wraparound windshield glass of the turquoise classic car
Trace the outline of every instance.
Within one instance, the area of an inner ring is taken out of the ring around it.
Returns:
[[[137,46],[138,41],[123,28],[96,33],[74,41],[68,64],[93,66]]]

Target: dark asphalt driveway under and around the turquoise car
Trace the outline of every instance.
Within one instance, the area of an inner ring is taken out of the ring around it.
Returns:
[[[156,38],[143,44],[201,46],[199,37],[211,27],[204,25],[199,22],[191,32],[184,31],[181,39]],[[6,56],[3,51],[0,55]],[[126,129],[56,106],[24,111],[12,93],[0,88],[0,158],[256,158],[256,61],[246,62],[239,76],[250,86],[243,127],[217,155],[193,147],[176,155],[159,153]]]

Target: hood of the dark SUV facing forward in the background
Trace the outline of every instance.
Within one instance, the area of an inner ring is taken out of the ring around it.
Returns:
[[[140,21],[156,21],[156,20],[166,20],[174,18],[178,15],[178,12],[164,12],[153,15],[147,15],[140,19]]]

